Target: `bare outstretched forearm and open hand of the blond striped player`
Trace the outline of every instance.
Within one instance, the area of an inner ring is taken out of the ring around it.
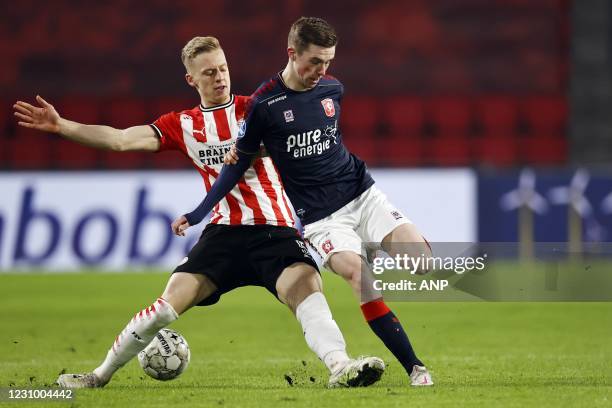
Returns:
[[[86,125],[62,118],[40,95],[38,106],[17,101],[13,105],[19,126],[42,132],[58,133],[66,139],[98,149],[114,151],[157,151],[160,141],[150,126],[115,129],[110,126]]]

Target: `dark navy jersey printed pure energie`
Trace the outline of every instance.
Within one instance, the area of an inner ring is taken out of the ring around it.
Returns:
[[[298,92],[278,74],[253,94],[236,142],[245,153],[259,151],[263,142],[303,224],[327,217],[374,184],[365,163],[342,143],[343,94],[333,77]]]

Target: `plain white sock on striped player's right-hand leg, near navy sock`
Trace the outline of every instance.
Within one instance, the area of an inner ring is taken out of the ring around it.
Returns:
[[[302,325],[308,347],[334,372],[349,361],[346,343],[321,292],[315,292],[298,305],[295,316]]]

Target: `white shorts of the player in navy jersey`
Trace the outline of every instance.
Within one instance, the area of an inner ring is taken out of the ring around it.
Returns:
[[[317,250],[326,266],[336,252],[350,251],[365,256],[363,243],[379,248],[383,238],[402,224],[412,224],[412,221],[372,186],[333,214],[305,225],[304,239]]]

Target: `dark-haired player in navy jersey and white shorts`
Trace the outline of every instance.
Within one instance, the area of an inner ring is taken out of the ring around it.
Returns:
[[[322,19],[302,17],[292,25],[287,66],[252,95],[234,156],[228,158],[234,165],[224,166],[200,206],[173,227],[180,233],[199,223],[238,182],[263,143],[304,226],[304,238],[324,265],[351,285],[368,324],[400,361],[411,384],[432,385],[399,320],[373,288],[362,244],[381,245],[391,256],[431,256],[431,251],[415,226],[374,186],[365,163],[342,143],[338,123],[344,87],[325,75],[336,43],[334,29]]]

